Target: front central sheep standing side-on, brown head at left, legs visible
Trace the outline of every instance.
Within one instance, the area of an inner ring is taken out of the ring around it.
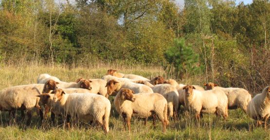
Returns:
[[[131,131],[131,117],[147,118],[153,116],[153,125],[155,126],[156,116],[160,119],[163,125],[163,132],[166,131],[166,126],[169,124],[167,119],[167,101],[158,93],[138,93],[131,89],[121,89],[114,98],[116,111],[123,116],[124,126]]]

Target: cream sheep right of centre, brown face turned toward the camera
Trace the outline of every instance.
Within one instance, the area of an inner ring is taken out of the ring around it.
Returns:
[[[226,120],[228,117],[228,98],[224,91],[219,89],[199,91],[191,85],[187,85],[183,89],[185,90],[186,105],[195,111],[195,117],[198,121],[200,113],[216,113]]]

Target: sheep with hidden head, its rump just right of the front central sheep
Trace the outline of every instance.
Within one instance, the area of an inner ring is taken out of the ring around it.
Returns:
[[[179,107],[179,94],[175,87],[169,84],[155,85],[152,87],[154,93],[160,93],[168,102],[168,115],[177,118]]]

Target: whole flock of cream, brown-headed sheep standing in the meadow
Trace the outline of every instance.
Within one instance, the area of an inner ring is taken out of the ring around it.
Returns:
[[[108,96],[114,97],[114,106],[123,117],[124,125],[130,132],[131,117],[157,118],[162,122],[163,132],[169,124],[168,117],[177,119],[180,105],[195,113],[196,120],[202,113],[215,113],[224,120],[228,109],[241,108],[258,125],[270,117],[270,88],[251,97],[243,88],[221,88],[214,83],[205,83],[205,88],[196,85],[178,84],[173,79],[164,80],[157,76],[152,80],[134,74],[123,74],[108,70],[101,79],[79,78],[76,82],[63,82],[49,74],[41,74],[38,84],[5,88],[0,91],[0,111],[9,111],[10,120],[15,118],[15,110],[27,112],[27,124],[31,123],[33,109],[37,109],[41,119],[51,111],[51,119],[63,116],[70,128],[71,118],[92,121],[109,131],[111,103]],[[45,111],[41,110],[41,106]]]

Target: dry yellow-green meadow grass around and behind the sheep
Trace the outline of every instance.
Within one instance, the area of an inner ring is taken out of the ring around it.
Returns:
[[[119,66],[116,64],[96,63],[89,67],[67,67],[67,66],[46,66],[38,64],[2,65],[0,69],[0,89],[36,83],[37,76],[41,73],[49,73],[57,76],[63,81],[75,81],[77,78],[100,78],[108,69],[117,69],[124,73],[140,74],[151,78],[156,75],[163,75],[170,78],[170,74],[161,67],[156,66]],[[182,83],[201,85],[204,78],[200,76],[184,79]],[[109,98],[113,103],[113,97]],[[122,118],[119,117],[112,105],[110,116],[110,132],[104,135],[99,127],[93,127],[89,123],[80,123],[72,127],[72,130],[63,128],[61,123],[52,125],[47,119],[41,123],[38,115],[34,112],[32,123],[25,126],[25,120],[18,121],[13,125],[7,125],[8,113],[0,111],[0,138],[1,140],[261,140],[270,139],[270,130],[262,127],[255,127],[253,121],[240,109],[229,110],[229,118],[223,121],[215,115],[205,114],[199,124],[189,113],[180,114],[180,120],[170,120],[167,132],[162,133],[162,124],[157,123],[153,128],[152,121],[144,126],[144,121],[133,118],[131,122],[132,132],[124,129]],[[20,120],[19,113],[18,120]],[[58,119],[61,122],[61,119]]]

